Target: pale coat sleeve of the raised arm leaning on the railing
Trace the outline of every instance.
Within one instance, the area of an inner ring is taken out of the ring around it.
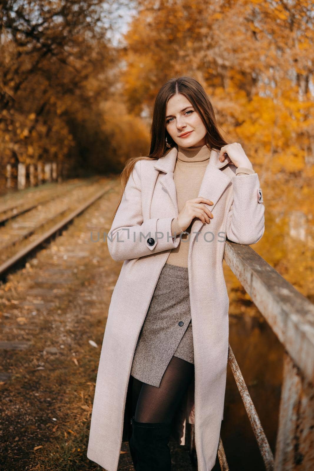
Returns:
[[[233,202],[227,215],[226,236],[237,244],[256,244],[265,231],[265,207],[257,173],[238,173],[232,179]]]

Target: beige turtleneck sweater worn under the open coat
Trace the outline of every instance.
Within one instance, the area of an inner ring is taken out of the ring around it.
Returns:
[[[181,147],[178,145],[173,179],[177,189],[177,206],[179,212],[182,210],[186,201],[197,198],[201,181],[209,163],[209,157],[210,149],[206,145],[196,147]],[[242,175],[243,173],[255,173],[255,171],[241,167],[237,169],[236,175]],[[188,232],[188,234],[182,234],[182,240],[177,248],[171,250],[166,263],[187,267],[189,234],[191,233],[192,222],[190,226],[183,231],[178,224],[177,217],[172,219],[171,234],[173,237],[180,237],[182,232]]]

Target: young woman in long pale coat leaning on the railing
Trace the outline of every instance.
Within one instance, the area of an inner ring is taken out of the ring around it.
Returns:
[[[188,421],[198,470],[209,471],[228,355],[225,239],[255,244],[264,234],[258,175],[242,146],[221,137],[201,84],[184,76],[161,87],[149,155],[127,162],[122,177],[107,243],[124,262],[108,312],[87,456],[117,471],[127,436],[137,471],[170,470],[170,434],[184,445]]]

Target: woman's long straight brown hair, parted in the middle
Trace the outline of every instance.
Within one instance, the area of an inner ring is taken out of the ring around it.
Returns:
[[[184,95],[201,116],[201,120],[207,129],[205,136],[206,146],[220,150],[222,146],[227,144],[218,130],[214,108],[200,82],[189,76],[173,77],[169,79],[161,87],[155,99],[153,122],[150,130],[151,147],[149,154],[144,157],[133,157],[129,159],[121,172],[122,194],[113,213],[113,218],[121,203],[125,186],[135,163],[138,160],[158,160],[167,154],[167,151],[170,149],[166,146],[166,138],[171,147],[176,146],[176,143],[166,130],[166,108],[168,100],[177,93]]]

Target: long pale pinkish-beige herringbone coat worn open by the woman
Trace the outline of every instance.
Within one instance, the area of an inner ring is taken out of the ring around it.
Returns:
[[[191,229],[195,377],[173,422],[173,437],[181,445],[185,424],[195,423],[198,471],[215,464],[223,419],[229,334],[225,235],[238,244],[255,244],[265,230],[258,174],[235,175],[230,158],[220,162],[218,157],[212,149],[199,190],[214,203],[209,206],[214,217],[209,224],[194,218]],[[107,238],[112,258],[124,262],[105,327],[87,450],[88,458],[107,471],[117,471],[121,441],[127,439],[126,397],[138,335],[169,251],[180,242],[171,237],[171,220],[178,214],[176,159],[173,147],[158,160],[135,164]]]

